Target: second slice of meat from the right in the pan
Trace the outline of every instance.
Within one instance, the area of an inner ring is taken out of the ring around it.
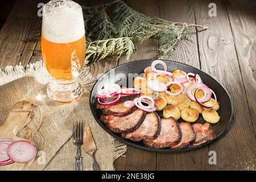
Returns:
[[[176,149],[189,147],[190,143],[196,138],[192,126],[188,122],[180,122],[178,125],[180,126],[181,130],[181,142],[170,146],[170,148]]]

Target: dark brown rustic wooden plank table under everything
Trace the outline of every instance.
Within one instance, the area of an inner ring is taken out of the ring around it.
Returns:
[[[26,66],[42,59],[41,18],[37,5],[42,0],[17,0],[0,31],[0,67]],[[77,1],[99,5],[108,1]],[[115,162],[117,170],[255,170],[256,169],[256,2],[128,0],[129,6],[149,16],[208,26],[192,28],[193,43],[182,42],[170,60],[197,67],[219,80],[231,95],[234,118],[225,137],[209,146],[183,154],[156,154],[128,147],[125,157]],[[208,15],[209,3],[217,5],[217,16]],[[157,55],[153,40],[141,44],[131,59],[110,57],[91,65],[95,77],[127,61]],[[216,151],[217,164],[208,163],[209,151]]]

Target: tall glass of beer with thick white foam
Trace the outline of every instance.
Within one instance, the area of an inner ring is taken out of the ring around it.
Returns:
[[[51,76],[47,94],[54,101],[73,102],[83,94],[78,82],[86,55],[82,7],[54,0],[43,7],[42,56]]]

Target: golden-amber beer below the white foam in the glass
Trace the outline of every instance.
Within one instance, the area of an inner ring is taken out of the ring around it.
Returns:
[[[43,60],[51,77],[56,80],[72,80],[72,67],[73,72],[80,73],[86,55],[85,36],[71,43],[54,43],[42,36],[41,44]]]

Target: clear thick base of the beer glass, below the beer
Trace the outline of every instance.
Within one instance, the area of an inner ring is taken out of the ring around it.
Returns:
[[[74,102],[83,94],[83,87],[79,82],[58,82],[52,80],[47,87],[47,94],[51,100],[57,102]]]

